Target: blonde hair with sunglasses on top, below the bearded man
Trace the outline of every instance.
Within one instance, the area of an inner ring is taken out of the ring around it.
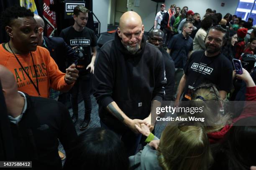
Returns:
[[[202,100],[203,99],[203,100]],[[202,84],[192,94],[193,107],[203,107],[203,112],[199,113],[197,117],[205,118],[205,130],[207,133],[216,132],[222,129],[227,123],[231,123],[231,115],[226,113],[220,114],[220,105],[224,103],[224,100],[220,99],[220,94],[215,85]],[[212,105],[216,102],[214,105]],[[211,107],[210,107],[211,106]]]

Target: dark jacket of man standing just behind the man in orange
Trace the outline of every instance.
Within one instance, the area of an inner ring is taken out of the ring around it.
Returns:
[[[45,37],[46,49],[50,52],[61,72],[73,63],[77,64],[77,53],[61,37]]]

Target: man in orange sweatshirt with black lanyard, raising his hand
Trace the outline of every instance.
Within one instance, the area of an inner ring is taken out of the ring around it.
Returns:
[[[3,11],[1,21],[8,43],[0,44],[0,65],[15,76],[18,90],[32,96],[49,97],[50,87],[68,91],[78,77],[72,64],[61,72],[49,51],[38,45],[38,26],[33,13],[25,7],[10,7]]]

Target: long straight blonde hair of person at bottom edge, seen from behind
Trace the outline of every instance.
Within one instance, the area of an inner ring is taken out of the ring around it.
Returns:
[[[166,126],[158,148],[164,170],[207,170],[212,153],[202,126]]]

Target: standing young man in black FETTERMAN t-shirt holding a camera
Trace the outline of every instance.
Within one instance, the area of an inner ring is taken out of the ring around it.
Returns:
[[[91,77],[94,72],[94,62],[96,59],[96,37],[93,30],[85,27],[90,11],[78,5],[74,8],[74,25],[61,31],[60,37],[75,49],[78,53],[77,69],[79,78],[70,90],[70,100],[73,109],[72,120],[75,123],[78,118],[78,92],[81,85],[82,97],[84,99],[84,121],[80,125],[80,130],[86,129],[91,121],[92,103],[90,98]],[[91,52],[92,51],[92,52]],[[91,74],[92,73],[92,74]]]

